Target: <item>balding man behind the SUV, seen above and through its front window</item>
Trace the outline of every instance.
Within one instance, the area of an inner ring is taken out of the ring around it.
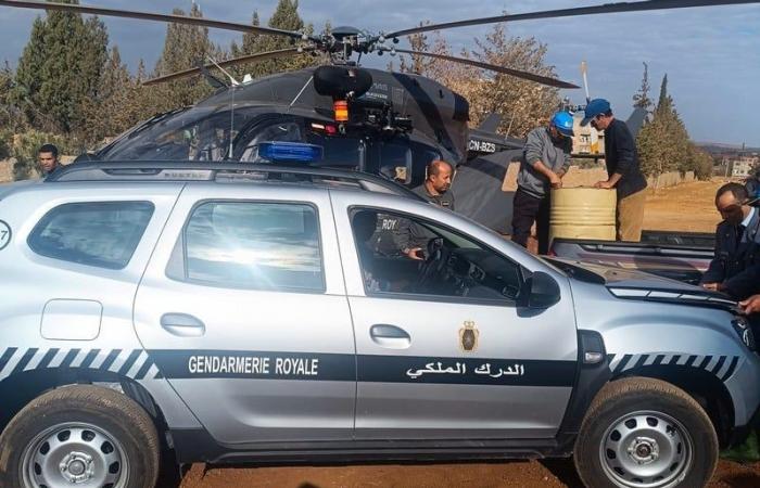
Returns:
[[[428,165],[427,175],[425,182],[413,191],[428,202],[454,211],[454,194],[448,191],[454,176],[452,165],[435,159]],[[422,249],[431,237],[429,232],[406,219],[401,219],[395,236],[402,254],[411,259],[425,259]]]

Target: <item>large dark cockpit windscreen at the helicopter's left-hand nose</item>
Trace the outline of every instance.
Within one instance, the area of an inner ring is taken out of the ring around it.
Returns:
[[[229,141],[254,116],[253,110],[230,112],[193,107],[148,123],[144,128],[117,141],[104,159],[221,160]]]

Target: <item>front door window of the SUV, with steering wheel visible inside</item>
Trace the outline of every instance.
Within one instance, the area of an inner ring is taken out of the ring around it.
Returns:
[[[380,247],[389,218],[398,221],[395,253],[388,239]],[[351,224],[368,295],[511,304],[522,290],[520,265],[454,229],[370,208],[353,209]]]

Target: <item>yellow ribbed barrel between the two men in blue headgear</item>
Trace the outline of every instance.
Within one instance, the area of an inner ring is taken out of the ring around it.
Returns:
[[[552,190],[549,242],[554,237],[615,241],[616,205],[613,189]]]

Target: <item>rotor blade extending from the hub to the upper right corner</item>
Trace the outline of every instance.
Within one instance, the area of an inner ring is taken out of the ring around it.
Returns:
[[[693,7],[733,5],[744,3],[760,3],[760,0],[648,0],[643,2],[618,2],[603,5],[577,7],[572,9],[545,10],[541,12],[527,12],[521,14],[497,15],[494,17],[471,18],[469,21],[446,22],[431,24],[410,29],[396,30],[384,34],[385,39],[411,34],[427,33],[430,30],[452,29],[455,27],[468,27],[472,25],[496,24],[499,22],[532,21],[535,18],[573,17],[577,15],[594,15],[604,13],[644,12],[649,10],[687,9]]]

